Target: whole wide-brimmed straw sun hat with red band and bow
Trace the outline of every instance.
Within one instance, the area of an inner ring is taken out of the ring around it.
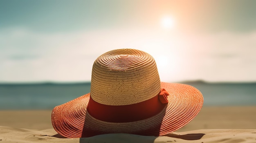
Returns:
[[[148,53],[117,49],[95,60],[90,93],[53,109],[52,125],[71,138],[109,133],[161,136],[193,120],[202,105],[196,88],[161,82]]]

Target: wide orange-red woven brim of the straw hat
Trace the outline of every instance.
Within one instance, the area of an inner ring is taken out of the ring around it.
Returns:
[[[201,92],[186,84],[161,82],[170,94],[166,107],[153,117],[141,121],[112,123],[90,116],[86,108],[90,93],[56,106],[52,111],[54,130],[65,137],[80,138],[98,134],[128,133],[162,136],[192,121],[203,105]]]

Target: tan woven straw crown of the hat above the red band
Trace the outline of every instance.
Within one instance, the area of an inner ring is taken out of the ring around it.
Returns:
[[[91,98],[120,106],[146,101],[161,90],[155,59],[135,49],[112,50],[99,56],[92,67]]]

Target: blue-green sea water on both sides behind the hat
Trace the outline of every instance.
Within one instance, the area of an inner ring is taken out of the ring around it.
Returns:
[[[204,106],[256,106],[256,83],[185,82],[198,88]],[[90,83],[0,84],[0,110],[45,110],[90,92]]]

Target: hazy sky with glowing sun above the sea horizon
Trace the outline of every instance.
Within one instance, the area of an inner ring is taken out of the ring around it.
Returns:
[[[161,81],[256,81],[256,0],[1,0],[0,82],[90,81],[101,54],[152,55]]]

